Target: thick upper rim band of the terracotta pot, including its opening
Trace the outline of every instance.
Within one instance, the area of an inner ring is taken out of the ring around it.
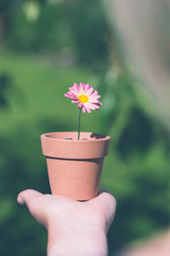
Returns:
[[[44,133],[41,136],[42,154],[62,159],[96,159],[108,154],[111,137],[99,133],[81,132],[80,137],[83,136],[87,140],[77,140],[75,131]],[[71,137],[73,139],[69,140]],[[99,138],[95,139],[95,137]]]

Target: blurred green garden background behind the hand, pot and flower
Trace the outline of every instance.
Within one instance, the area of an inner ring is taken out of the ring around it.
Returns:
[[[82,131],[111,136],[101,182],[117,200],[110,254],[169,224],[169,1],[122,2],[0,1],[3,256],[46,255],[46,230],[16,197],[50,193],[40,135],[77,131],[77,106],[64,96],[74,82],[102,96]]]

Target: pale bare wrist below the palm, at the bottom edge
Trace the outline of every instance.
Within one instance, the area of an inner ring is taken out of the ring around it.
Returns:
[[[82,225],[49,226],[48,256],[106,256],[105,230]]]

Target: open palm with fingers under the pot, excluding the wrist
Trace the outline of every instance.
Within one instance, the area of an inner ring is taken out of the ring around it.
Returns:
[[[20,193],[18,201],[27,205],[32,216],[44,226],[54,221],[59,225],[77,222],[79,226],[86,224],[102,227],[107,231],[116,211],[115,198],[101,192],[90,201],[74,201],[60,195],[42,195],[27,189]]]

